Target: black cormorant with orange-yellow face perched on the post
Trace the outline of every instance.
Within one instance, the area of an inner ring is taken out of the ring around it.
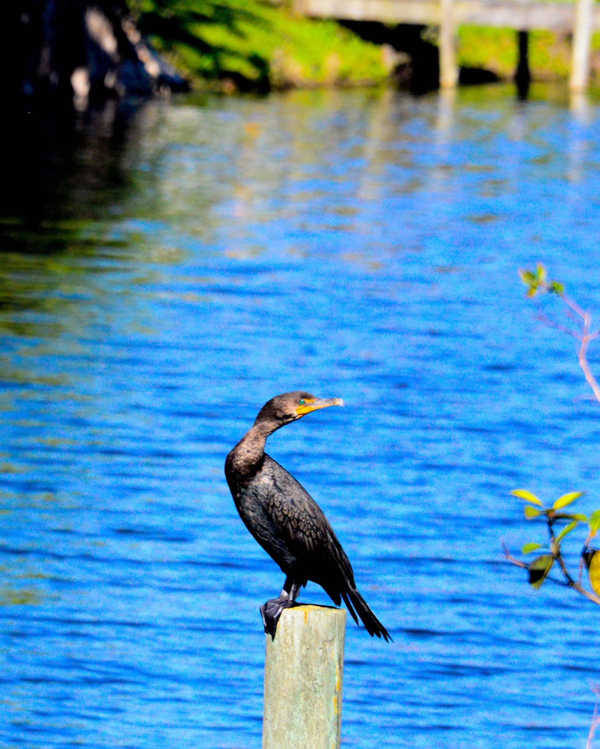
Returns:
[[[264,551],[285,573],[279,598],[261,606],[264,631],[275,639],[282,610],[294,605],[308,580],[318,583],[336,606],[342,598],[352,618],[366,631],[391,640],[354,583],[352,565],[323,510],[285,468],[264,452],[270,434],[306,413],[342,406],[340,398],[316,398],[309,392],[284,392],[261,408],[254,425],[225,460],[225,477],[237,512]]]

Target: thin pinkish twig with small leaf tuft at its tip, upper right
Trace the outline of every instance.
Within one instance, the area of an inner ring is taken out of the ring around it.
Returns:
[[[548,281],[546,269],[542,263],[536,265],[536,270],[519,270],[519,276],[521,276],[521,281],[527,286],[527,297],[535,297],[536,294],[556,294],[557,297],[560,297],[566,306],[572,310],[572,313],[575,313],[575,315],[568,313],[569,317],[575,319],[580,318],[580,330],[575,333],[575,331],[570,330],[568,327],[557,324],[543,315],[538,317],[540,321],[548,326],[555,327],[557,330],[562,330],[563,333],[567,333],[569,336],[573,336],[578,339],[578,341],[581,341],[581,346],[578,351],[579,366],[584,371],[585,378],[593,389],[594,395],[596,395],[596,400],[600,402],[600,386],[596,382],[596,377],[592,374],[590,365],[587,363],[587,348],[590,345],[590,342],[598,338],[600,335],[600,330],[596,330],[593,333],[590,332],[592,327],[592,315],[590,315],[590,312],[581,309],[578,303],[566,296],[565,287],[562,283],[559,281]]]

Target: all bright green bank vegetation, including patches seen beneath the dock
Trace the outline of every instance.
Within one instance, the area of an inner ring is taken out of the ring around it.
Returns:
[[[194,88],[225,91],[379,85],[393,61],[381,46],[360,39],[335,21],[294,14],[290,0],[129,0],[139,28],[181,70]],[[431,40],[437,35],[427,29]],[[566,79],[569,34],[530,32],[534,80]],[[458,29],[461,67],[491,70],[512,79],[517,40],[511,28]],[[600,34],[593,37],[592,73],[600,74]]]

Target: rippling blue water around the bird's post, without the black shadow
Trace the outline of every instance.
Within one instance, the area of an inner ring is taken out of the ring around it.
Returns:
[[[600,610],[500,552],[544,538],[512,488],[600,506],[600,407],[517,276],[600,310],[599,111],[561,96],[151,103],[49,160],[2,229],[3,746],[260,746],[282,574],[222,464],[302,388],[346,406],[268,450],[394,637],[348,624],[343,745],[584,747]]]

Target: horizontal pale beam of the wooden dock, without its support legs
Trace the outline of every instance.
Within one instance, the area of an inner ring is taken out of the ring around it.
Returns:
[[[440,25],[439,0],[296,0],[298,13],[318,18],[382,23]],[[520,31],[572,31],[575,3],[530,0],[455,0],[456,25],[496,26]],[[600,28],[600,7],[593,9],[593,28]]]

